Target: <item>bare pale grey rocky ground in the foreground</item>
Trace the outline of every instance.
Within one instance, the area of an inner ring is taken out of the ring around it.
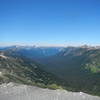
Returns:
[[[9,83],[0,85],[0,100],[100,100],[100,97]]]

